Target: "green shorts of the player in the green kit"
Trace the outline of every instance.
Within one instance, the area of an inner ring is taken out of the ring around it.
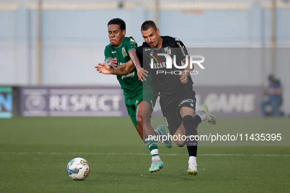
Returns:
[[[143,91],[145,91],[144,98]],[[156,103],[154,87],[145,87],[143,90],[141,89],[135,96],[132,96],[131,98],[125,98],[126,108],[134,126],[138,124],[136,121],[137,106],[143,100],[150,104],[153,111]]]

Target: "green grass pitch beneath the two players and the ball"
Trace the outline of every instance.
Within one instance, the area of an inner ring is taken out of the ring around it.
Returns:
[[[159,122],[153,120],[153,125],[156,127]],[[224,127],[232,130],[289,125],[287,119],[218,119],[215,126],[201,123],[199,132],[211,126],[220,131]],[[186,147],[160,146],[159,153],[165,168],[151,174],[149,150],[129,118],[0,120],[0,192],[280,193],[290,190],[289,146],[199,146],[197,176],[186,175]],[[90,163],[91,172],[83,181],[74,181],[66,173],[68,162],[75,157],[83,157]]]

